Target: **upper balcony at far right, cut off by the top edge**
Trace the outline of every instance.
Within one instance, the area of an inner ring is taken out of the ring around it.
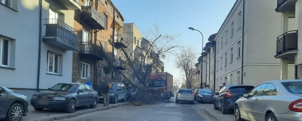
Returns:
[[[295,11],[297,0],[277,0],[276,12]]]

